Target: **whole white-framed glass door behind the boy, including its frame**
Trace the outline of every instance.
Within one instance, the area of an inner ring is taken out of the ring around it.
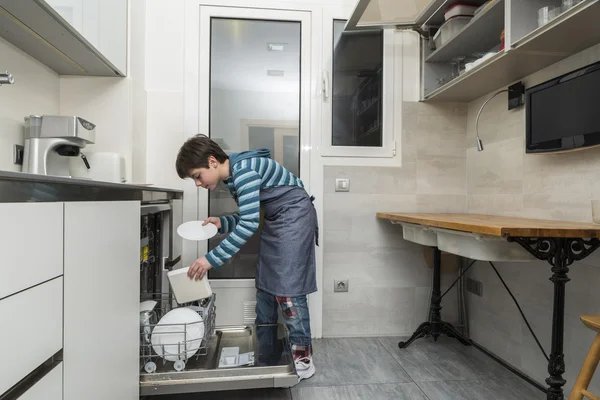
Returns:
[[[308,148],[310,127],[309,18],[305,12],[202,6],[199,43],[200,96],[206,96],[199,106],[200,132],[228,154],[269,149],[307,187],[308,153],[302,149]],[[200,216],[238,211],[223,183],[210,193],[200,190],[199,199]],[[219,303],[231,304],[220,307],[218,325],[253,322],[260,230],[236,256],[209,271],[211,286],[224,295],[217,293]],[[225,237],[211,239],[206,251]]]

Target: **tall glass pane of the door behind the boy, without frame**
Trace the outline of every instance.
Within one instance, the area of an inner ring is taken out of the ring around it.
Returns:
[[[299,175],[301,23],[213,17],[210,24],[211,138],[228,153],[267,148]],[[211,216],[238,210],[227,185],[210,192],[208,209]],[[224,238],[210,240],[209,250]],[[259,243],[257,232],[209,278],[253,279]]]

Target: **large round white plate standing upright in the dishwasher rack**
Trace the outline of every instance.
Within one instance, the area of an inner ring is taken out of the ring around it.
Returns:
[[[196,311],[181,307],[169,311],[152,331],[152,348],[167,361],[187,360],[200,348],[204,321]]]

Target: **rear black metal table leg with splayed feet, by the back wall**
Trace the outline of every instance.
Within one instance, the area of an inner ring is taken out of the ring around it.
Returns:
[[[460,332],[452,326],[452,324],[442,321],[442,293],[441,293],[441,260],[442,252],[437,247],[433,248],[433,288],[431,291],[431,318],[427,322],[423,322],[410,339],[406,342],[398,343],[398,347],[405,349],[415,340],[426,335],[431,335],[433,340],[437,341],[440,335],[446,335],[455,339],[465,346],[470,346],[471,341],[465,338]]]

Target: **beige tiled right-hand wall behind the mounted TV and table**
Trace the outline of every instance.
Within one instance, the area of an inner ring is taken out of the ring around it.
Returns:
[[[525,87],[600,60],[600,45],[524,79]],[[485,99],[469,104],[467,135],[467,210],[592,222],[590,200],[599,198],[600,149],[555,155],[525,154],[524,108],[507,111],[506,94],[490,101],[480,119],[485,150],[475,148],[475,117]],[[498,263],[500,273],[550,352],[553,285],[544,262]],[[483,297],[468,296],[473,339],[543,382],[546,362],[517,308],[489,264],[478,263],[471,277],[483,282]],[[571,266],[567,284],[565,362],[570,390],[594,333],[579,322],[581,314],[600,313],[600,255]],[[596,393],[600,391],[596,378]],[[594,385],[592,385],[594,386]]]

